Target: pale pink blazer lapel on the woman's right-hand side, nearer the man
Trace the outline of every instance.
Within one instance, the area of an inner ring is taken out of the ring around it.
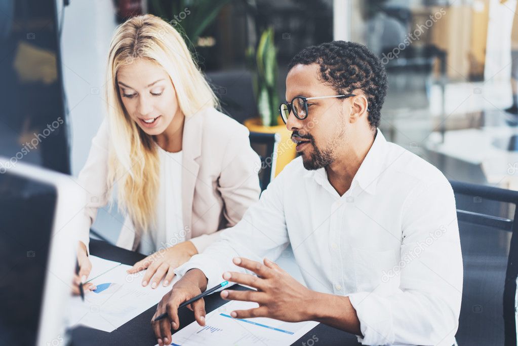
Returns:
[[[182,217],[183,225],[192,236],[192,212],[194,188],[198,178],[199,164],[196,158],[202,155],[203,117],[198,113],[185,118],[182,139]]]

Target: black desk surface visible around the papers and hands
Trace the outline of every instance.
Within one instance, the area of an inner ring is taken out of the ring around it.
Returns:
[[[91,240],[90,251],[93,255],[110,259],[112,261],[121,262],[123,264],[133,265],[135,262],[144,258],[143,255],[124,250],[103,241]],[[236,286],[234,289],[238,289]],[[239,287],[239,289],[245,289]],[[210,295],[205,298],[205,309],[208,312],[217,309],[225,304],[225,300],[219,295]],[[72,344],[74,346],[81,345],[150,345],[156,344],[156,339],[151,329],[150,321],[156,311],[156,305],[142,312],[133,320],[122,325],[120,328],[113,330],[111,333],[106,331],[91,329],[87,327],[76,327],[72,331]],[[186,326],[194,322],[194,315],[189,309],[181,309],[179,313],[181,326]],[[318,342],[316,341],[318,338]],[[308,343],[308,340],[310,340]],[[294,345],[303,344],[312,345],[318,343],[320,345],[358,345],[356,336],[344,331],[319,324],[309,331],[305,336],[301,337]]]

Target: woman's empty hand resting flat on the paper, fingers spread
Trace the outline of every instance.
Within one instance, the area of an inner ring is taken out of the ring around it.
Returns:
[[[147,256],[142,261],[135,263],[127,272],[133,274],[148,269],[142,279],[142,286],[147,286],[152,281],[151,288],[155,289],[164,277],[164,286],[167,286],[175,277],[174,270],[189,261],[197,253],[198,251],[192,242],[184,241]]]

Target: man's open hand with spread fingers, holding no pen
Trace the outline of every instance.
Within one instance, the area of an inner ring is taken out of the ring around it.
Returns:
[[[258,308],[232,311],[234,318],[269,317],[285,322],[313,320],[315,304],[312,292],[277,264],[264,259],[264,264],[247,258],[235,257],[234,264],[253,271],[256,276],[238,272],[224,272],[223,279],[252,286],[255,291],[224,290],[221,297],[227,300],[255,301]]]

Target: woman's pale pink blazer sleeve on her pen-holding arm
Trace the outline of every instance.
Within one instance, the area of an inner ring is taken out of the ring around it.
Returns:
[[[108,122],[100,125],[88,154],[87,162],[79,172],[78,183],[86,191],[84,212],[81,214],[79,240],[89,250],[90,227],[95,221],[98,208],[108,204]]]

